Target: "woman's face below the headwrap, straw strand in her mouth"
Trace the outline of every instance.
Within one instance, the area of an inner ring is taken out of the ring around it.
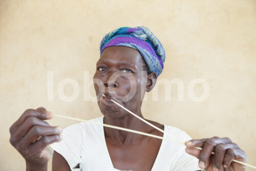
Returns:
[[[138,111],[146,90],[147,72],[138,50],[125,46],[111,46],[103,50],[93,77],[98,105],[104,116],[120,118],[127,109]],[[104,94],[107,97],[103,97]]]

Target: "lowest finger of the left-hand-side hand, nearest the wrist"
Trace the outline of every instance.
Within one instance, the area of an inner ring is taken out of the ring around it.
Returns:
[[[62,139],[61,135],[51,135],[42,137],[39,141],[30,145],[30,153],[27,154],[24,158],[28,158],[29,156],[37,153],[38,151],[44,149],[47,145],[52,144],[54,142],[58,142]]]

